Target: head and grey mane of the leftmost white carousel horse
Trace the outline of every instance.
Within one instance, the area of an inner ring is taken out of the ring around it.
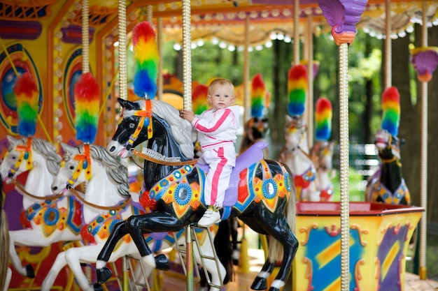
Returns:
[[[36,137],[15,138],[10,135],[8,142],[8,152],[0,165],[3,179],[16,178],[23,172],[38,169],[47,169],[55,177],[61,157],[53,144]]]

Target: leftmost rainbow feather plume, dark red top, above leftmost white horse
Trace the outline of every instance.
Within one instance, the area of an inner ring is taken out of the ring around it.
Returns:
[[[38,87],[30,73],[22,73],[14,87],[17,100],[18,133],[30,137],[35,134],[38,118]]]

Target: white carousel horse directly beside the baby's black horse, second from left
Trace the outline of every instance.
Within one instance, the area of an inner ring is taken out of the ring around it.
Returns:
[[[85,149],[87,146],[90,147],[89,150]],[[65,151],[65,163],[52,183],[52,191],[66,194],[70,190],[77,195],[74,188],[85,181],[87,182],[85,194],[81,199],[83,201],[84,221],[81,235],[85,246],[69,248],[59,253],[43,281],[41,290],[49,291],[59,271],[66,264],[69,264],[81,290],[92,291],[94,288],[83,274],[80,262],[95,263],[97,254],[111,233],[113,225],[134,214],[144,214],[145,211],[140,204],[130,199],[127,169],[116,158],[110,156],[104,147],[94,144],[71,147],[62,144],[62,148]],[[85,167],[85,161],[89,163],[90,167]],[[84,167],[85,170],[83,170]],[[178,232],[176,236],[178,244],[185,244],[183,231]],[[112,253],[110,262],[125,255],[140,258],[139,251],[130,236],[123,237],[121,241],[120,246]],[[145,236],[145,241],[154,251],[168,248],[175,243],[171,232],[148,234]],[[205,244],[205,248],[211,247],[209,244]],[[157,269],[167,270],[167,258],[164,255],[157,255],[155,265]],[[209,271],[213,275],[217,273],[213,268]],[[223,276],[225,276],[225,268]],[[222,278],[224,278],[223,276]]]

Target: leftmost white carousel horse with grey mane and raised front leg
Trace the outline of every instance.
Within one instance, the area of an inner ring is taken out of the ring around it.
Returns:
[[[61,157],[53,144],[38,138],[8,136],[9,147],[0,173],[4,181],[13,181],[23,195],[24,230],[10,230],[10,261],[22,276],[34,278],[31,264],[23,267],[15,246],[50,246],[57,241],[80,239],[80,203],[69,197],[53,195],[52,181],[59,171]],[[24,187],[15,177],[29,171]]]

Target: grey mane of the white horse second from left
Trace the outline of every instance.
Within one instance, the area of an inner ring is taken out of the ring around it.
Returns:
[[[84,145],[77,146],[80,152],[84,152]],[[96,144],[90,144],[90,155],[94,161],[103,165],[106,168],[106,174],[110,180],[117,186],[118,193],[122,197],[129,197],[129,179],[128,171],[125,165],[122,165],[113,156],[108,154],[108,151],[104,147],[100,147]],[[72,154],[66,152],[64,159],[69,161],[72,158]]]

